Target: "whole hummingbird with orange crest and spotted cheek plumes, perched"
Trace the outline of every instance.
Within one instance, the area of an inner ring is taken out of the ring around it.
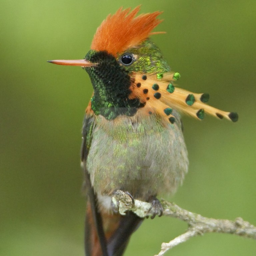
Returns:
[[[159,194],[173,194],[188,171],[181,113],[198,120],[210,114],[238,120],[236,112],[211,107],[207,93],[176,86],[160,49],[150,39],[160,11],[137,15],[140,6],[120,8],[98,27],[81,60],[51,60],[81,66],[91,79],[93,95],[85,110],[81,165],[88,202],[85,223],[87,256],[123,255],[142,218],[121,216],[113,208],[115,191],[152,203],[157,215]],[[154,216],[153,216],[154,217]]]

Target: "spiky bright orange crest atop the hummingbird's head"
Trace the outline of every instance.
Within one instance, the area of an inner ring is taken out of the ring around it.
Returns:
[[[131,12],[130,10],[130,8],[122,10],[121,7],[114,15],[108,15],[94,35],[91,44],[92,50],[106,50],[117,56],[117,53],[122,53],[143,42],[149,37],[150,32],[162,22],[157,19],[157,16],[161,14],[159,11],[135,17],[140,6]]]

